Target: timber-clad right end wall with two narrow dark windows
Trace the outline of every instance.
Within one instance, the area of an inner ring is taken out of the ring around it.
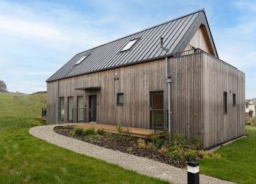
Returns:
[[[203,144],[208,148],[245,135],[245,74],[207,54],[203,54]],[[228,93],[224,114],[223,92]],[[236,94],[236,105],[232,105]]]

